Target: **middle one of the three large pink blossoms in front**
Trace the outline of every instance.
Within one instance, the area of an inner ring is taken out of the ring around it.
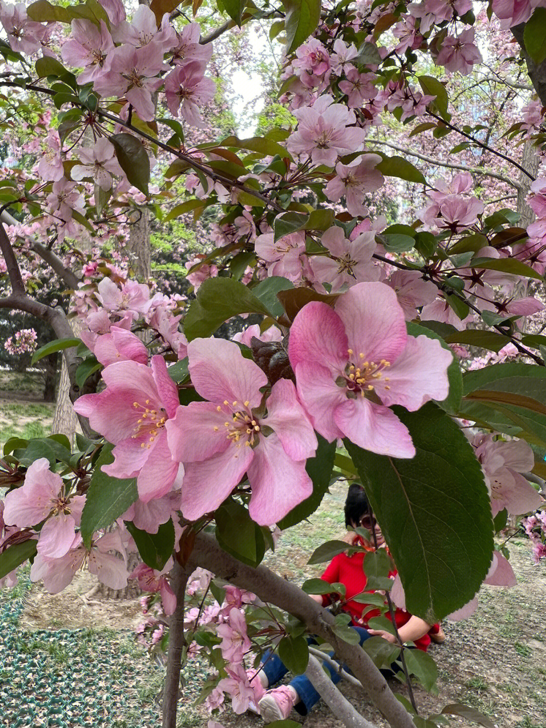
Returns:
[[[193,386],[209,401],[180,406],[166,424],[172,454],[185,464],[182,514],[195,521],[215,510],[246,472],[251,517],[276,523],[313,490],[305,461],[317,441],[294,384],[273,384],[265,415],[260,387],[268,379],[233,341],[193,339],[188,361]]]

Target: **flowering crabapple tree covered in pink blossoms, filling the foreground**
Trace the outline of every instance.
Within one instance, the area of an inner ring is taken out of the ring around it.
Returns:
[[[392,589],[388,604],[362,597],[377,628],[393,629],[391,601],[433,623],[471,614],[483,582],[513,585],[494,545],[508,515],[527,515],[544,555],[546,178],[530,170],[545,154],[545,20],[541,0],[493,0],[478,20],[470,0],[1,4],[1,123],[25,133],[1,170],[0,306],[51,327],[33,357],[63,352],[83,434],[74,447],[55,434],[4,444],[0,579],[13,585],[30,561],[51,593],[87,568],[158,595],[164,727],[196,652],[216,715],[227,697],[236,713],[256,700],[271,646],[320,685],[321,645],[393,728],[461,712],[488,724],[460,705],[419,716],[378,668],[398,660],[404,681],[432,688],[430,657],[378,636],[361,648],[347,614],[308,596],[342,603],[342,585],[300,588],[261,562],[337,478],[364,483],[388,542],[390,555],[366,557],[369,589]],[[283,48],[289,121],[199,137],[214,44],[258,21]],[[457,124],[448,92],[462,76],[479,84],[499,37],[505,69],[532,89],[504,151],[483,124]],[[376,140],[389,124],[501,160],[504,179],[526,179],[534,219],[486,199],[479,169],[438,179],[388,156]],[[372,212],[388,189],[390,220]],[[214,220],[214,247],[187,264],[189,297],[129,274],[135,213]],[[33,296],[28,269],[55,274],[68,315]],[[9,343],[23,346],[31,331]],[[310,563],[342,550],[327,542]],[[345,724],[370,725],[336,700]]]

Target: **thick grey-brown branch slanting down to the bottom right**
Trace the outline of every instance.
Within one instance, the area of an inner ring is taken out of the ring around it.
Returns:
[[[275,604],[279,609],[293,614],[305,622],[308,630],[332,645],[337,657],[345,662],[361,681],[372,703],[388,721],[391,728],[415,728],[406,708],[396,700],[385,678],[359,645],[348,644],[340,639],[332,625],[334,616],[318,606],[296,585],[281,579],[265,566],[246,566],[226,553],[211,536],[197,534],[193,552],[186,565],[190,571],[197,566],[209,569],[226,581],[242,587]]]

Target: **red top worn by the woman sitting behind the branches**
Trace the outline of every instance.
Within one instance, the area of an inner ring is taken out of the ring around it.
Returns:
[[[372,550],[372,549],[369,549]],[[381,612],[377,606],[369,604],[361,604],[358,601],[352,601],[352,597],[360,594],[366,590],[366,574],[362,568],[366,553],[364,551],[357,551],[352,556],[347,553],[340,553],[334,556],[329,566],[326,567],[326,571],[322,574],[321,579],[330,584],[334,582],[340,582],[345,585],[345,604],[342,605],[344,612],[350,614],[353,625],[360,627],[367,627],[368,620],[372,617],[378,617]],[[396,575],[396,571],[390,572],[391,576]],[[373,593],[372,590],[369,590]],[[322,597],[322,606],[328,606],[332,602],[332,598],[328,594],[324,594]],[[385,615],[390,620],[390,614],[387,612]],[[396,608],[395,620],[396,626],[401,627],[409,621],[411,614],[404,612],[403,609]],[[415,640],[415,646],[426,652],[427,646],[430,644],[430,637],[428,634]]]

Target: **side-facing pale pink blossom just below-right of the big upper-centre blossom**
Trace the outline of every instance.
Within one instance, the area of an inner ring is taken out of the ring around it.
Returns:
[[[366,215],[368,208],[364,205],[364,195],[379,189],[385,182],[385,177],[375,168],[380,162],[379,154],[364,154],[349,165],[338,162],[336,176],[326,185],[324,194],[332,202],[345,197],[351,215]]]

